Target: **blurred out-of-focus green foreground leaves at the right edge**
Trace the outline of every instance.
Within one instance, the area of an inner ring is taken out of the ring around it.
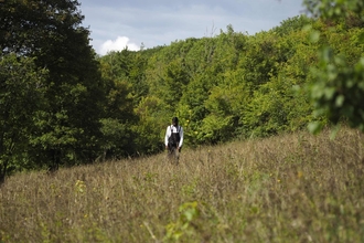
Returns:
[[[346,27],[362,27],[364,23],[364,2],[362,0],[304,0],[313,17],[330,23],[345,23]],[[357,24],[353,24],[353,19]],[[350,22],[350,24],[347,24]],[[332,24],[335,27],[335,24]],[[331,28],[334,31],[334,28]],[[343,31],[350,31],[344,29]],[[356,45],[363,51],[364,32],[357,30]],[[313,31],[313,41],[318,41],[322,31]],[[347,40],[346,40],[347,42]],[[347,44],[347,43],[345,43]],[[352,45],[352,44],[350,44]],[[362,51],[360,53],[362,53]],[[319,68],[313,70],[317,82],[311,87],[314,112],[326,115],[333,124],[345,119],[347,124],[364,133],[364,57],[356,56],[351,62],[345,54],[332,45],[324,45],[319,52]],[[355,59],[354,59],[355,60]],[[322,124],[310,124],[310,130],[317,133]]]

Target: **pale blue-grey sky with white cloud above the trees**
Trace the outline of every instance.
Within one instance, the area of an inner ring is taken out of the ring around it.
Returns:
[[[188,38],[267,31],[303,13],[302,0],[78,0],[98,54],[169,45]]]

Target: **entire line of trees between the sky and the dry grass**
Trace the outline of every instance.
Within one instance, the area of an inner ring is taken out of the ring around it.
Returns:
[[[363,6],[340,2],[304,1],[310,17],[255,35],[227,25],[104,56],[77,1],[0,2],[0,180],[160,152],[172,116],[190,147],[343,120],[363,131]]]

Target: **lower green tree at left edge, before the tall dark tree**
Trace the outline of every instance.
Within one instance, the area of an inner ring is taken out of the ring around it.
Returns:
[[[33,59],[15,54],[0,59],[0,182],[12,170],[32,166],[23,156],[34,130],[33,113],[44,102],[45,77],[46,70],[38,68]]]

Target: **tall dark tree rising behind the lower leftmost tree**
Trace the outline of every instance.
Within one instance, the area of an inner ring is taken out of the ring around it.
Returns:
[[[9,0],[0,4],[2,55],[34,59],[38,68],[49,72],[42,83],[44,106],[32,117],[34,160],[53,168],[92,161],[98,152],[104,94],[89,31],[81,27],[79,3]]]

